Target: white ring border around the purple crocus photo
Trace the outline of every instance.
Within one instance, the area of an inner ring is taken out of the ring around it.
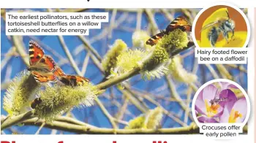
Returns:
[[[235,123],[235,124],[240,124],[244,127],[244,125],[247,123],[247,121],[249,120],[249,115],[251,112],[251,104],[249,102],[249,96],[247,95],[246,91],[244,90],[244,88],[241,87],[241,85],[238,85],[238,83],[233,82],[232,80],[227,80],[227,79],[216,79],[216,80],[211,80],[209,82],[206,82],[205,84],[203,84],[195,93],[195,96],[193,98],[192,101],[192,116],[194,118],[195,123],[200,127],[202,124],[204,123],[199,123],[197,120],[197,116],[195,115],[195,101],[197,99],[197,96],[199,95],[199,93],[201,92],[201,90],[203,90],[203,88],[206,88],[207,85],[210,85],[212,83],[216,83],[216,82],[229,82],[233,85],[236,85],[237,88],[239,88],[239,90],[242,91],[242,93],[244,94],[244,97],[246,98],[246,103],[247,103],[247,113],[246,113],[246,117],[244,119],[244,123]],[[219,125],[221,125],[222,123],[218,123]],[[223,124],[227,124],[227,123],[223,123]],[[231,124],[231,123],[230,123]]]

